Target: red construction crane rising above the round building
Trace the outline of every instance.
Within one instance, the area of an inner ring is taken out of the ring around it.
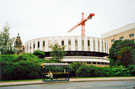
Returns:
[[[77,25],[73,26],[68,32],[71,32],[72,30],[74,30],[75,28],[77,28],[78,26],[81,25],[81,36],[85,36],[85,22],[89,19],[92,19],[92,17],[94,16],[94,13],[90,13],[89,16],[84,19],[84,13],[82,12],[82,20],[81,22],[79,22]]]

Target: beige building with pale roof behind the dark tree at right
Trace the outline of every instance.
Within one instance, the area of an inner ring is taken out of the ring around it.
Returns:
[[[115,40],[135,40],[135,23],[131,23],[113,31],[107,32],[102,35],[102,38],[108,41],[108,48],[111,48]]]

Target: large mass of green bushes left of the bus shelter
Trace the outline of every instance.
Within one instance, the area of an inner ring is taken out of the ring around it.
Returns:
[[[1,55],[0,65],[2,80],[41,78],[38,58],[33,54]]]

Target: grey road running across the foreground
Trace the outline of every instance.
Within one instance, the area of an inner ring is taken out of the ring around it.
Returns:
[[[0,87],[0,89],[135,89],[133,87],[135,87],[135,80],[49,83]]]

